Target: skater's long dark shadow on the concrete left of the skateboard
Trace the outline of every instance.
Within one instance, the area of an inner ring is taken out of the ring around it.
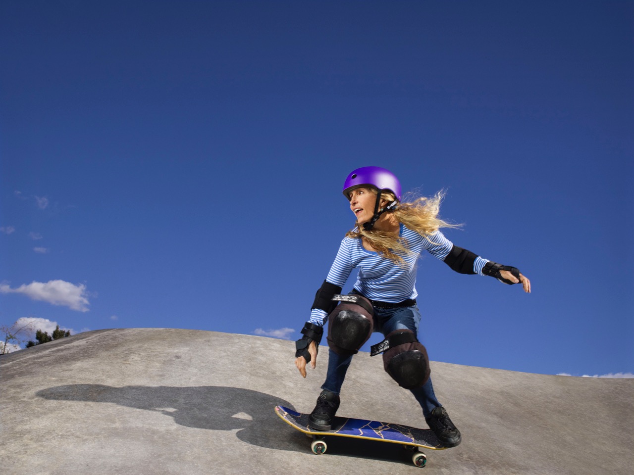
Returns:
[[[176,388],[170,386],[124,386],[69,384],[37,391],[40,398],[54,401],[111,403],[134,409],[160,412],[181,426],[214,431],[233,431],[251,445],[281,450],[301,450],[297,440],[284,436],[285,424],[274,407],[292,405],[259,391],[224,386]]]

